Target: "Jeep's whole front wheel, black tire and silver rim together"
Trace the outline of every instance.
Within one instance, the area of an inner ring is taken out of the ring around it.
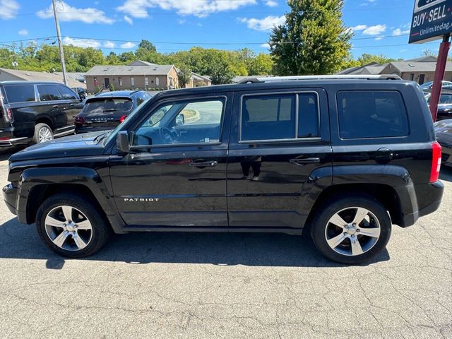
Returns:
[[[47,198],[37,210],[36,227],[49,249],[71,258],[94,254],[111,232],[95,203],[78,194]]]

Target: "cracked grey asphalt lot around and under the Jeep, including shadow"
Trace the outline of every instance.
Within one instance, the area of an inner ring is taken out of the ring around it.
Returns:
[[[285,234],[124,234],[66,259],[1,201],[0,338],[452,338],[452,169],[441,179],[436,213],[350,267]]]

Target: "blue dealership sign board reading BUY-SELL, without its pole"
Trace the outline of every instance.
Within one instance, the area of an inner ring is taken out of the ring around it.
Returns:
[[[415,0],[410,44],[441,38],[452,32],[452,0]]]

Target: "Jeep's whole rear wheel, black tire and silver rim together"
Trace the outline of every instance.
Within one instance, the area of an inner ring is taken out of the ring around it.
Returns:
[[[311,237],[327,258],[349,265],[362,263],[377,256],[388,244],[391,218],[373,198],[338,198],[314,217]]]

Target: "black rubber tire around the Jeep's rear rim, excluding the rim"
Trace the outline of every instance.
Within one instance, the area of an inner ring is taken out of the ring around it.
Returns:
[[[369,249],[369,251],[359,256],[345,256],[334,251],[328,245],[325,237],[326,226],[328,225],[330,218],[340,210],[351,207],[366,208],[376,216],[380,224],[380,237],[378,241],[371,249]],[[319,249],[324,256],[338,263],[353,265],[369,261],[380,254],[380,252],[385,249],[386,244],[388,244],[389,238],[391,237],[391,227],[391,218],[381,203],[366,196],[355,196],[340,198],[338,201],[332,202],[322,208],[319,215],[317,215],[311,224],[311,237],[317,249]]]

